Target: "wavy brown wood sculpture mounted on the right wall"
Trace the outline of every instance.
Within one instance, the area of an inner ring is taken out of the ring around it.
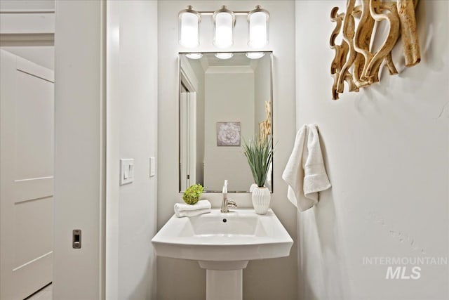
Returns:
[[[415,7],[418,0],[347,0],[346,13],[338,13],[338,7],[330,11],[330,20],[335,29],[330,34],[330,48],[335,56],[330,65],[334,79],[332,98],[344,91],[344,81],[349,91],[359,91],[379,81],[380,66],[385,62],[390,74],[398,74],[391,50],[398,38],[402,37],[406,67],[420,63],[420,42],[418,41]],[[356,26],[356,19],[358,24]],[[375,22],[388,22],[389,32],[382,46],[373,53],[370,48],[371,37],[375,34]],[[336,45],[335,38],[342,32],[342,44]]]

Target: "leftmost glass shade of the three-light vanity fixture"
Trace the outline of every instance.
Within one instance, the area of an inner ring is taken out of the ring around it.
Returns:
[[[186,48],[199,46],[199,22],[201,16],[192,9],[192,6],[180,11],[178,32],[181,46]]]

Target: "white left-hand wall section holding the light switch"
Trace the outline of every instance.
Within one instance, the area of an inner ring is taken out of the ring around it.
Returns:
[[[106,299],[155,299],[157,1],[107,2]],[[119,159],[133,183],[119,185]]]

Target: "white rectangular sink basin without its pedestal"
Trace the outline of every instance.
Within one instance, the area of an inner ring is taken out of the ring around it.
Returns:
[[[170,220],[153,240],[156,254],[196,261],[248,261],[288,256],[293,240],[272,209],[236,209]]]

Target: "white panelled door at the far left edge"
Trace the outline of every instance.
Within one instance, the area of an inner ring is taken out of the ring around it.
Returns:
[[[53,71],[0,50],[0,299],[52,281]]]

